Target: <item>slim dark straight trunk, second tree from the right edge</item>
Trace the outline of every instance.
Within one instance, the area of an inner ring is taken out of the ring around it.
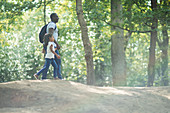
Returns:
[[[157,8],[157,0],[151,0],[151,8],[154,12]],[[150,40],[150,49],[149,49],[149,64],[148,64],[148,87],[153,86],[154,78],[155,78],[155,48],[156,48],[156,39],[157,39],[157,26],[158,19],[156,15],[153,18],[152,26],[151,26],[151,40]]]

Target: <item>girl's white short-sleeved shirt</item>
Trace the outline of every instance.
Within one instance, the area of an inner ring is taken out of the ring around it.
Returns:
[[[52,50],[55,51],[54,49],[54,42],[48,42],[47,45],[47,54],[45,55],[45,58],[54,58],[54,54],[52,53],[50,46],[53,45]]]

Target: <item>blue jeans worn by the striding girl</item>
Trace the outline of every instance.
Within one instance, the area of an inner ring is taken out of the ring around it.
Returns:
[[[54,78],[56,78],[58,66],[54,59],[49,59],[49,58],[45,59],[44,67],[36,75],[39,76],[41,73],[47,73],[47,71],[50,67],[50,64],[52,64],[52,66],[54,67]],[[42,77],[42,79],[46,79],[46,77],[47,76],[45,76],[45,78]]]

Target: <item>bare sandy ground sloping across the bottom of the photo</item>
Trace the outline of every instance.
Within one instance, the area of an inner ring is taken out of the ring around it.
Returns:
[[[170,113],[170,87],[14,81],[0,84],[0,113]]]

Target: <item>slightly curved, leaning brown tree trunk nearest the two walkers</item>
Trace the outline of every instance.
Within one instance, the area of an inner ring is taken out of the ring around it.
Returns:
[[[78,22],[81,28],[81,35],[82,35],[82,40],[83,40],[83,45],[85,50],[85,59],[87,65],[87,84],[95,85],[92,44],[90,43],[88,37],[88,29],[83,16],[82,0],[76,0],[76,11],[78,16]]]

